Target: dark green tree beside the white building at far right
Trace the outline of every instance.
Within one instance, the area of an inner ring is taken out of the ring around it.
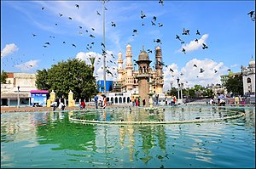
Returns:
[[[227,88],[228,93],[232,92],[235,95],[243,95],[242,76],[230,76],[225,83],[225,87]]]

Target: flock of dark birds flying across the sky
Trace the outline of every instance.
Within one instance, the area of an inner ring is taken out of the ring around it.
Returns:
[[[160,3],[161,5],[164,5],[164,0],[159,0],[159,2],[158,3]],[[77,8],[77,9],[79,9],[79,4],[75,4],[74,5],[74,8]],[[41,10],[47,10],[47,8],[41,8]],[[104,10],[108,10],[108,8],[104,8]],[[98,10],[96,10],[96,15],[98,15],[98,16],[101,16],[102,14],[98,11]],[[250,11],[249,13],[248,13],[248,15],[250,16],[250,18],[251,18],[251,20],[255,20],[255,12],[254,11]],[[64,17],[65,16],[65,14],[61,14],[61,13],[59,13],[59,17]],[[147,15],[143,12],[143,10],[141,10],[141,14],[140,14],[140,18],[141,18],[141,20],[143,20],[143,22],[141,23],[141,26],[145,26],[146,25],[146,23],[144,22],[145,21],[145,19],[147,18]],[[68,20],[73,20],[73,18],[71,17],[71,16],[67,16],[67,19]],[[55,23],[55,25],[57,26],[58,25],[58,23]],[[149,22],[149,25],[151,25],[151,26],[156,26],[156,25],[158,25],[158,27],[162,27],[162,26],[164,26],[161,22],[159,22],[158,21],[158,19],[157,19],[157,17],[156,16],[153,16],[152,17],[152,19],[150,20],[150,22]],[[116,27],[116,26],[118,26],[116,23],[114,23],[113,21],[111,21],[111,26],[114,28],[114,27]],[[79,25],[78,26],[78,28],[79,28],[79,34],[81,35],[81,34],[83,34],[83,27],[81,26],[81,25]],[[90,30],[85,30],[85,33],[87,33],[88,34],[88,36],[90,37],[90,39],[92,40],[92,42],[89,42],[89,43],[87,43],[86,44],[86,49],[88,50],[88,51],[90,51],[93,47],[94,47],[94,45],[95,45],[95,42],[93,41],[93,39],[95,39],[96,37],[95,37],[95,35],[94,35],[94,31],[95,31],[95,28],[93,28],[93,27],[91,27],[90,28]],[[133,28],[132,29],[132,35],[131,36],[137,36],[137,34],[138,34],[138,29],[137,28]],[[181,44],[184,44],[185,42],[183,41],[183,38],[182,38],[182,36],[191,36],[190,34],[190,31],[189,31],[189,29],[185,29],[185,28],[183,28],[183,31],[181,32],[181,36],[179,36],[179,35],[176,35],[176,39],[181,43]],[[35,33],[32,33],[32,37],[37,37],[38,35],[37,34],[35,34]],[[198,37],[196,37],[195,38],[195,42],[199,42],[199,40],[198,40],[198,38],[199,38],[199,36],[201,36],[201,32],[199,31],[199,30],[196,30],[196,32],[195,32],[195,36],[198,36]],[[49,38],[51,38],[51,39],[55,39],[55,36],[49,36]],[[161,40],[160,40],[160,38],[156,38],[156,39],[154,39],[153,40],[153,42],[156,42],[156,43],[158,43],[158,44],[162,44],[162,42],[161,42]],[[67,44],[67,42],[66,41],[63,41],[62,42],[63,44]],[[73,42],[71,42],[70,43],[70,45],[73,47],[73,48],[76,48],[77,47],[77,45],[75,44],[75,43],[73,43]],[[102,46],[102,57],[106,57],[106,55],[107,55],[107,52],[104,50],[105,49],[105,44],[103,43],[103,42],[100,42],[100,44],[99,45],[101,45]],[[208,48],[208,46],[207,46],[207,44],[205,44],[205,43],[202,43],[201,44],[202,45],[202,49],[207,49]],[[43,46],[43,48],[49,48],[50,46],[51,46],[51,42],[49,41],[49,42],[44,42],[44,44],[42,45]],[[148,48],[148,50],[147,50],[147,52],[148,52],[148,54],[149,53],[152,53],[152,50],[150,49],[150,48]],[[185,48],[182,48],[182,51],[181,51],[183,54],[186,54],[186,49]],[[112,63],[113,65],[116,65],[117,63],[115,62],[115,57],[113,56],[113,54],[110,54],[112,57],[112,59],[109,59],[109,60],[107,60],[107,63]],[[90,55],[90,58],[93,58],[94,56],[91,56]],[[12,58],[11,58],[12,59]],[[114,60],[113,60],[114,59]],[[55,59],[53,59],[53,61],[54,61]],[[96,65],[99,65],[100,63],[101,63],[101,61],[102,61],[102,58],[101,57],[98,57],[98,58],[96,58]],[[134,59],[134,61],[136,62],[136,60]],[[22,62],[22,61],[21,61]],[[134,64],[135,66],[136,66],[136,64]],[[156,63],[156,65],[165,65],[163,62],[159,62],[159,63]],[[30,65],[31,67],[32,67],[32,65]],[[166,66],[166,68],[168,67],[167,65],[165,65]],[[116,68],[115,68],[116,66],[114,66],[114,67],[112,67],[112,69],[113,69],[113,71],[116,71]],[[197,67],[197,65],[194,65],[193,67]],[[101,67],[102,69],[103,69],[103,67]],[[154,68],[154,66],[153,66],[153,68]],[[106,72],[109,74],[109,75],[111,75],[111,76],[116,76],[117,74],[116,73],[114,73],[113,74],[113,72],[110,70],[110,67],[107,65],[106,66]],[[170,71],[172,72],[172,73],[174,73],[174,70],[172,70],[172,68],[169,68],[170,69]],[[199,70],[199,73],[203,73],[205,70],[203,70],[202,68],[200,68],[200,70]],[[214,70],[214,73],[217,73],[218,72],[218,70]],[[97,73],[96,73],[96,76],[97,76]],[[172,75],[173,76],[173,75]],[[183,73],[181,72],[180,73],[180,76],[183,76]],[[174,77],[174,76],[173,76]],[[198,76],[197,76],[198,77]]]

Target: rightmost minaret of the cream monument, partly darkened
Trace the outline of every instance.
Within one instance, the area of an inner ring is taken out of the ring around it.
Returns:
[[[155,93],[163,93],[164,78],[162,65],[162,51],[159,46],[155,48]]]

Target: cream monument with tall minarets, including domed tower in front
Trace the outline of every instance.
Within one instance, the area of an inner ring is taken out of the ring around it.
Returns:
[[[126,46],[126,65],[123,69],[122,54],[118,54],[118,80],[117,83],[121,85],[121,91],[131,94],[138,94],[141,97],[141,101],[148,105],[149,101],[149,79],[152,78],[152,93],[163,92],[163,64],[161,48],[158,46],[155,48],[155,70],[150,67],[148,53],[141,50],[138,56],[135,66],[138,66],[138,70],[135,70],[135,66],[132,63],[131,45]]]

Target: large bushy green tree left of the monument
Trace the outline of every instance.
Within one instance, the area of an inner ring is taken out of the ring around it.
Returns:
[[[66,99],[70,90],[74,98],[89,99],[96,94],[96,79],[90,65],[79,59],[68,59],[49,70],[38,70],[36,85],[38,89],[54,90],[56,97]]]

